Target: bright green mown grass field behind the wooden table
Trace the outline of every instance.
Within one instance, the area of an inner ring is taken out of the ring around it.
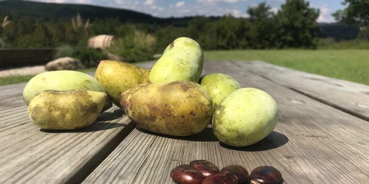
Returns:
[[[369,50],[205,51],[205,60],[262,60],[323,76],[369,85]],[[83,70],[83,72],[92,71]],[[0,85],[26,82],[32,76],[0,78]]]

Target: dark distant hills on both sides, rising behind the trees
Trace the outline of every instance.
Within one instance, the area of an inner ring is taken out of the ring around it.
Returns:
[[[72,16],[80,13],[84,19],[118,18],[123,23],[147,23],[159,26],[187,26],[193,17],[183,18],[158,18],[149,14],[127,10],[108,8],[85,4],[59,4],[45,3],[25,0],[0,0],[0,17],[10,15],[15,20],[20,16],[34,17],[40,20],[68,20]],[[220,17],[211,17],[217,20]],[[337,23],[319,24],[321,32],[320,38],[332,37],[335,40],[348,40],[356,38],[359,28],[357,26],[347,26]]]

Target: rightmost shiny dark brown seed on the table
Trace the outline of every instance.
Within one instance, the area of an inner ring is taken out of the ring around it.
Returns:
[[[251,184],[278,184],[282,174],[272,166],[256,167],[250,174]]]

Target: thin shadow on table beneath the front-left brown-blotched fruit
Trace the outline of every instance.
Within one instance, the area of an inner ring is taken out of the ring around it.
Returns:
[[[42,132],[48,132],[48,133],[70,133],[70,132],[92,132],[92,131],[103,131],[103,130],[108,130],[108,129],[115,129],[118,127],[126,127],[128,125],[123,124],[123,123],[100,123],[100,122],[95,122],[92,123],[92,125],[84,128],[84,129],[79,129],[79,130],[45,130],[45,129],[40,129],[40,131]]]

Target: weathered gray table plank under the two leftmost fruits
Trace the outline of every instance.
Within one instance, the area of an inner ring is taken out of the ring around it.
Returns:
[[[1,184],[79,183],[135,127],[114,106],[83,130],[40,130],[28,117],[22,86],[2,87],[8,95],[0,96]]]

